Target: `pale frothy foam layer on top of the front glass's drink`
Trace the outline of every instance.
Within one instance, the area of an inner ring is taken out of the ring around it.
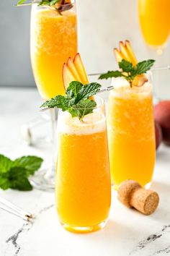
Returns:
[[[104,132],[105,129],[105,116],[97,111],[84,116],[83,121],[80,121],[78,117],[72,118],[68,112],[62,112],[58,119],[58,132],[60,133],[90,135]]]

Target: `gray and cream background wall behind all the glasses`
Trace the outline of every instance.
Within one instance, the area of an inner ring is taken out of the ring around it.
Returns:
[[[0,86],[35,82],[30,67],[30,7],[13,7],[14,0],[0,1]],[[170,47],[157,57],[143,41],[138,24],[137,0],[77,0],[79,51],[88,72],[116,67],[113,46],[129,39],[138,59],[158,59],[157,66],[170,63]],[[170,97],[170,72],[157,72],[155,84]],[[160,82],[161,80],[161,82]]]

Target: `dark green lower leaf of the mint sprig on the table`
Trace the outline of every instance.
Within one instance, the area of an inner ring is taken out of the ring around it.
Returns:
[[[32,190],[32,185],[27,179],[27,169],[23,167],[13,167],[9,171],[10,188],[21,191]]]

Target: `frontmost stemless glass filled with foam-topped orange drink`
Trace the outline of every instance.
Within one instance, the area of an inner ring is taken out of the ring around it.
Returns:
[[[58,165],[55,201],[61,224],[68,231],[101,229],[111,200],[109,155],[104,102],[96,97],[94,113],[83,121],[68,112],[58,116]]]

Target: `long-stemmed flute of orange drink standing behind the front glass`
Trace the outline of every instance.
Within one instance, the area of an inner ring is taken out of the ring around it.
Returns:
[[[44,101],[63,94],[62,67],[69,56],[77,52],[77,18],[74,1],[60,6],[66,10],[58,13],[53,8],[32,5],[31,62],[39,93]],[[72,8],[70,8],[72,7]],[[55,140],[55,111],[50,111],[52,140]],[[53,153],[53,152],[52,152]],[[55,187],[55,155],[53,164],[32,177],[40,189]]]

